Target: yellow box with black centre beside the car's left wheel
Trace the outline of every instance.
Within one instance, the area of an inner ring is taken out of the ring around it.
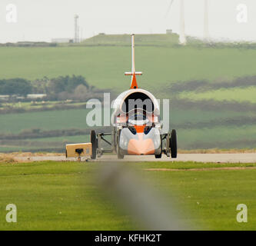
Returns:
[[[66,158],[91,156],[91,143],[66,145]]]

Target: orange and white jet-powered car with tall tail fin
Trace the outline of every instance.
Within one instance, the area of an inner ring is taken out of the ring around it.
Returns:
[[[88,153],[91,159],[109,152],[116,153],[119,159],[125,155],[155,155],[155,158],[161,158],[163,153],[177,158],[176,131],[162,132],[158,100],[149,91],[138,88],[136,75],[142,75],[142,72],[135,71],[135,35],[131,35],[131,42],[132,70],[125,73],[132,76],[131,87],[115,99],[112,132],[96,134],[94,130],[91,131],[91,149]],[[111,136],[111,141],[105,136]],[[103,148],[102,141],[110,148]],[[71,148],[77,154],[78,151],[85,152],[82,148],[76,150],[74,145]],[[68,157],[71,151],[68,151],[68,147],[66,150]]]

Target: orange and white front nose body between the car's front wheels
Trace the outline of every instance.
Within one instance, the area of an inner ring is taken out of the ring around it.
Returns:
[[[128,155],[154,155],[161,150],[161,135],[158,129],[144,131],[145,126],[135,126],[133,130],[123,128],[120,148]]]

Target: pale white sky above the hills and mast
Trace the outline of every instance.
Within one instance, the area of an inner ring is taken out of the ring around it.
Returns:
[[[180,0],[1,0],[0,42],[47,41],[74,37],[74,15],[80,16],[82,37],[99,32],[165,33],[180,31]],[[211,38],[256,41],[255,0],[208,0]],[[6,6],[17,6],[17,22],[6,21]],[[237,20],[239,4],[248,7],[248,21]],[[204,0],[185,0],[185,33],[202,37]]]

